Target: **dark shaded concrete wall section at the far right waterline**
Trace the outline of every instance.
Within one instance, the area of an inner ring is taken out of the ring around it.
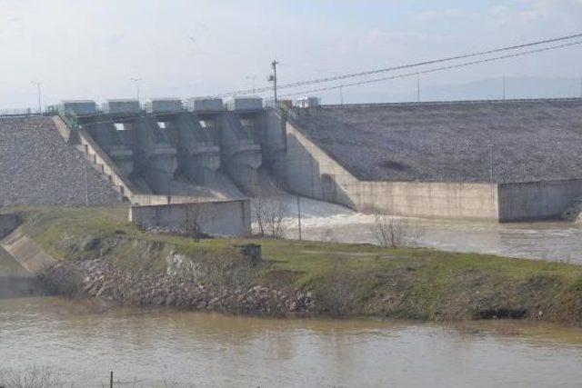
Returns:
[[[499,184],[499,221],[557,219],[582,196],[582,180]]]

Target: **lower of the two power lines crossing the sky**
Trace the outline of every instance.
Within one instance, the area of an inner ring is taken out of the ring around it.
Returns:
[[[324,92],[324,91],[327,91],[327,90],[335,90],[335,89],[338,89],[340,87],[343,88],[343,87],[347,87],[347,86],[357,86],[357,85],[375,84],[375,83],[382,82],[382,81],[388,81],[388,80],[393,80],[393,79],[398,79],[398,78],[406,78],[406,77],[410,77],[410,76],[414,76],[414,75],[426,75],[426,74],[429,74],[429,73],[436,73],[436,72],[443,71],[443,70],[457,69],[457,68],[467,67],[467,66],[471,66],[471,65],[486,64],[488,62],[499,61],[499,60],[507,59],[507,58],[514,58],[514,57],[517,57],[517,56],[532,55],[532,54],[542,53],[542,52],[546,52],[546,51],[557,50],[558,48],[564,48],[564,47],[569,47],[569,46],[573,46],[573,45],[582,45],[582,41],[568,43],[568,44],[564,44],[564,45],[553,45],[553,46],[550,46],[550,47],[539,48],[537,50],[530,50],[530,51],[521,52],[521,53],[517,53],[517,54],[495,56],[495,57],[492,57],[492,58],[481,59],[481,60],[478,60],[478,61],[464,62],[464,63],[458,64],[458,65],[448,65],[448,66],[436,67],[436,68],[433,68],[433,69],[422,70],[422,71],[418,71],[418,72],[414,72],[414,73],[406,73],[406,74],[403,74],[403,75],[392,75],[392,76],[388,76],[388,77],[373,78],[373,79],[366,80],[366,81],[359,81],[359,82],[355,82],[355,83],[351,83],[351,84],[327,86],[327,87],[322,87],[322,88],[318,88],[318,89],[311,89],[311,90],[303,91],[303,92],[300,92],[300,93],[292,93],[292,94],[287,94],[287,95],[280,95],[280,97],[291,97],[291,96],[295,96],[295,95],[306,95],[306,94],[310,94],[310,93]]]

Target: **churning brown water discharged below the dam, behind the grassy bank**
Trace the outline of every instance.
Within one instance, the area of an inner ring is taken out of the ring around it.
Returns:
[[[287,237],[297,238],[296,197],[285,197]],[[301,198],[303,238],[337,243],[376,244],[374,215]],[[420,231],[417,246],[442,251],[498,254],[582,264],[582,227],[566,222],[497,224],[408,218]]]

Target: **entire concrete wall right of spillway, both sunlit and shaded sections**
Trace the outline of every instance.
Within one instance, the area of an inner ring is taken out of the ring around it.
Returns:
[[[293,124],[274,171],[299,194],[358,211],[444,219],[519,222],[557,219],[582,196],[582,180],[517,184],[366,182],[358,180]]]

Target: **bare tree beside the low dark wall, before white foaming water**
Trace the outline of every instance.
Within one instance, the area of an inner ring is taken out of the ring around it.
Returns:
[[[280,192],[268,196],[256,195],[253,199],[256,234],[259,237],[282,238],[288,213],[287,205]]]

